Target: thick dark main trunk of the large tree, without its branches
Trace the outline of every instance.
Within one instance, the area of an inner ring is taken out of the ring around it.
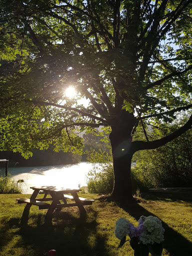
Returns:
[[[112,196],[132,200],[132,187],[130,178],[132,158],[132,127],[135,124],[135,117],[128,111],[123,111],[121,116],[116,118],[115,124],[111,125],[109,135],[112,157],[114,185]]]

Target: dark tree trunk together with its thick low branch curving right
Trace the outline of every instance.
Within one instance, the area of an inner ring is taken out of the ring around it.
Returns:
[[[192,115],[179,129],[153,141],[132,141],[131,131],[135,123],[136,118],[133,113],[124,110],[121,110],[119,116],[115,117],[111,123],[109,139],[112,148],[114,172],[114,185],[111,195],[118,197],[119,200],[121,198],[126,199],[126,201],[132,200],[130,170],[133,153],[138,150],[157,148],[178,137],[191,128]]]

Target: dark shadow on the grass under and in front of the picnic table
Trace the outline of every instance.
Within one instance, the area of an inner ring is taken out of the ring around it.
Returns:
[[[44,214],[30,214],[28,224],[22,224],[18,218],[6,222],[6,234],[17,226],[14,235],[20,239],[14,248],[29,248],[27,256],[47,256],[48,250],[55,249],[57,256],[96,256],[108,255],[105,249],[106,237],[96,232],[96,212],[87,208],[87,215],[80,216],[78,209],[55,211],[52,224],[44,223]],[[5,231],[5,230],[4,230]],[[8,239],[13,239],[12,236]],[[4,239],[4,244],[7,244]]]

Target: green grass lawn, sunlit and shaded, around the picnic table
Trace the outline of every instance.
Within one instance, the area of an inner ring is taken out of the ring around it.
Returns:
[[[46,256],[49,249],[55,249],[57,256],[133,256],[128,241],[117,249],[114,226],[119,217],[137,225],[140,215],[161,219],[165,228],[162,255],[192,255],[192,200],[185,195],[145,195],[144,200],[128,206],[95,200],[85,206],[84,218],[77,207],[55,211],[52,225],[44,225],[46,210],[32,205],[24,226],[20,226],[20,218],[25,204],[15,200],[21,196],[0,194],[0,256]],[[80,196],[96,198],[97,194]]]

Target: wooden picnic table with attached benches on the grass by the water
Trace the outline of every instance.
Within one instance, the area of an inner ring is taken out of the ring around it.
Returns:
[[[31,205],[37,205],[39,209],[47,209],[45,219],[50,221],[52,219],[52,213],[56,208],[61,209],[63,207],[77,206],[80,214],[84,214],[86,213],[84,205],[90,205],[94,201],[93,199],[79,197],[77,192],[81,189],[57,188],[55,186],[31,186],[30,188],[34,190],[30,198],[16,199],[18,203],[26,203],[22,218],[25,218],[26,215],[28,216]],[[42,198],[36,198],[39,193],[44,194]],[[66,199],[70,199],[70,202]],[[46,201],[51,201],[51,203],[47,203]]]

